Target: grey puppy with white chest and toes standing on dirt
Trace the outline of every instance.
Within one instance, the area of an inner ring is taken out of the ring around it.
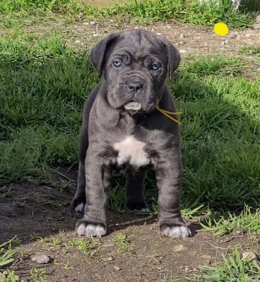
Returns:
[[[83,113],[78,187],[71,205],[84,206],[78,235],[107,233],[106,191],[114,165],[126,168],[126,208],[146,211],[144,180],[155,170],[160,233],[185,238],[191,231],[180,212],[182,160],[179,125],[156,106],[175,112],[165,79],[179,66],[177,49],[146,30],[102,39],[90,60],[104,79],[90,93]]]

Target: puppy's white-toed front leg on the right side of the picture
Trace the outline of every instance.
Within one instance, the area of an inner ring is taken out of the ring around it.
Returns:
[[[179,152],[167,152],[160,156],[155,166],[159,190],[158,223],[162,235],[174,238],[185,238],[191,235],[180,210],[181,174],[182,162]]]

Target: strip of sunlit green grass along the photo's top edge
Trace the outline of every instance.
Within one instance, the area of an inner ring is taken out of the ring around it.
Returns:
[[[94,8],[74,0],[2,0],[0,14],[24,17],[45,14],[50,16],[53,13],[64,15],[70,21],[77,20],[80,14],[88,20],[116,16],[119,21],[129,20],[132,23],[143,24],[175,19],[183,23],[210,26],[224,22],[231,28],[237,28],[252,26],[254,18],[249,12],[252,7],[252,4],[246,3],[242,11],[232,11],[229,0],[223,0],[219,6],[198,4],[195,0],[191,2],[183,0],[131,0],[121,4],[112,4],[107,8]],[[5,26],[14,25],[13,19],[4,18],[4,20]]]

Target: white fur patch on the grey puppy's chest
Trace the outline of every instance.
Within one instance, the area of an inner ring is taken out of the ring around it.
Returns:
[[[117,164],[126,161],[132,166],[146,166],[149,164],[148,154],[144,151],[146,143],[136,140],[134,136],[128,136],[122,142],[114,143],[114,149],[118,151]]]

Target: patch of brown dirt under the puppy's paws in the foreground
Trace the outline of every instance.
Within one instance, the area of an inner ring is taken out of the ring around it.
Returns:
[[[29,183],[1,188],[1,192],[7,197],[0,201],[0,241],[14,235],[22,240],[18,261],[10,269],[25,281],[32,281],[32,269],[42,267],[43,275],[52,282],[160,281],[170,274],[190,276],[200,265],[214,265],[219,251],[251,246],[247,235],[214,238],[194,222],[188,222],[192,238],[162,237],[154,216],[109,212],[109,234],[94,239],[94,247],[84,249],[77,247],[81,238],[74,232],[81,214],[69,211],[72,192]],[[125,239],[114,242],[115,236],[122,234]],[[47,255],[51,260],[47,264],[32,262],[35,255]]]

